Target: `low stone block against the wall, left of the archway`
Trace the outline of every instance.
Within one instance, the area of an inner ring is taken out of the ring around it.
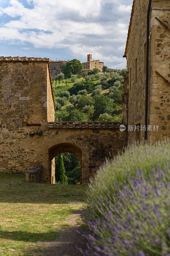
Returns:
[[[36,165],[30,168],[30,170],[26,172],[26,181],[42,183],[43,182],[43,166]]]

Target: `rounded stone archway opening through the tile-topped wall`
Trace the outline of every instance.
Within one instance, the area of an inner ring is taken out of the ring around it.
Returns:
[[[80,178],[82,184],[82,150],[81,148],[75,146],[71,143],[60,143],[54,145],[53,147],[49,148],[48,155],[49,155],[49,181],[50,183],[54,183],[55,177],[55,162],[54,157],[60,153],[72,153],[80,159]]]

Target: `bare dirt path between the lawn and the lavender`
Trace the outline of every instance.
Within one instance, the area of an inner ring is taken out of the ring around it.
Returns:
[[[76,232],[80,228],[80,224],[77,223],[81,219],[81,211],[76,211],[69,216],[70,225],[66,230],[61,229],[61,235],[54,241],[46,241],[39,243],[38,247],[44,248],[43,252],[38,255],[42,256],[80,256],[81,253],[75,248],[76,245],[82,244],[82,238]],[[80,242],[81,239],[81,242]],[[37,254],[33,254],[37,256]]]

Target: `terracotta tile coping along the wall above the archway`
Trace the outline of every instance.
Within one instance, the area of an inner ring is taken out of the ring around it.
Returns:
[[[118,122],[49,122],[49,128],[118,129]]]

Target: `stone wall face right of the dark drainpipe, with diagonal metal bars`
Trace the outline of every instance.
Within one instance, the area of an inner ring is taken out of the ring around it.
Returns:
[[[148,132],[151,142],[170,137],[170,1],[153,1],[151,13],[151,79],[149,91],[149,125],[159,125],[158,132]],[[158,9],[158,10],[156,10]],[[160,10],[164,9],[164,10]],[[159,20],[157,20],[157,17]],[[159,74],[156,73],[159,72]]]

